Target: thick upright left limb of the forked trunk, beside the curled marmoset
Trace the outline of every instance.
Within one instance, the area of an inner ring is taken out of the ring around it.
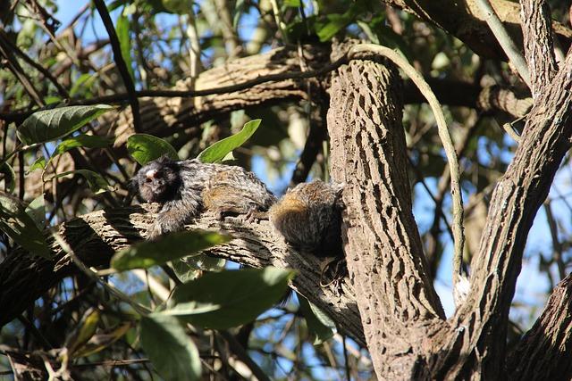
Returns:
[[[332,74],[330,97],[332,178],[346,184],[344,251],[367,346],[378,377],[410,379],[425,326],[444,313],[411,210],[399,75],[352,61]]]

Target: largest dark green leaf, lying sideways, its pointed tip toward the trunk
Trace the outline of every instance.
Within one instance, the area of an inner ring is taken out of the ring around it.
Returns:
[[[273,267],[206,273],[177,286],[172,307],[160,313],[202,327],[236,327],[256,319],[278,302],[294,274],[293,270]]]

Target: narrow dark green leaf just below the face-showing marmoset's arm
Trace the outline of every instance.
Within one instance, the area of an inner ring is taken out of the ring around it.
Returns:
[[[209,231],[181,231],[161,236],[156,241],[144,241],[114,254],[111,267],[117,270],[147,269],[186,255],[224,244],[231,236]]]

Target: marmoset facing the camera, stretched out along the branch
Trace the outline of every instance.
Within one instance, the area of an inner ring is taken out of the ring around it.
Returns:
[[[181,162],[163,156],[149,162],[135,177],[139,195],[147,203],[161,203],[156,221],[148,230],[153,239],[182,230],[201,211],[214,211],[219,219],[228,213],[257,218],[276,202],[276,197],[252,172],[240,167]]]

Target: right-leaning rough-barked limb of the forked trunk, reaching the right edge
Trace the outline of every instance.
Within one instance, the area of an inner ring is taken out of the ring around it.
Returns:
[[[467,302],[451,319],[446,352],[435,369],[439,377],[467,377],[480,371],[484,379],[501,374],[505,337],[526,236],[536,211],[546,199],[552,179],[572,138],[572,53],[527,120],[522,141],[507,172],[492,193]],[[450,361],[456,363],[448,367]]]

